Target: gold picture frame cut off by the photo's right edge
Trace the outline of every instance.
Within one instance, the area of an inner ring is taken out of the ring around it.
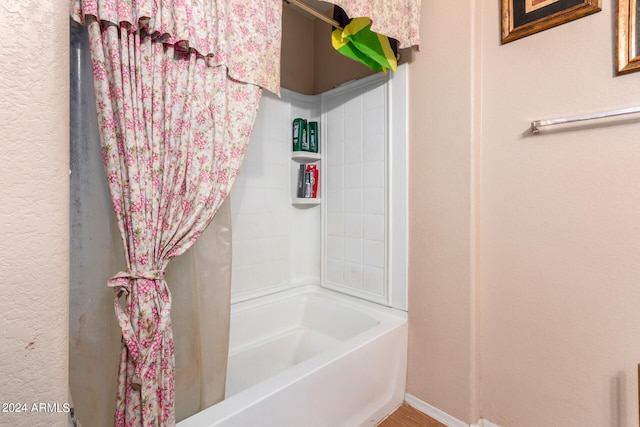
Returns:
[[[640,70],[640,34],[636,31],[636,21],[640,19],[640,2],[618,0],[616,38],[618,74]]]

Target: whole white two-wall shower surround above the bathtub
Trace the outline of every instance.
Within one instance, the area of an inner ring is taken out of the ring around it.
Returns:
[[[232,301],[316,284],[406,309],[406,75],[402,65],[320,95],[263,95],[231,194]],[[320,134],[320,197],[304,205],[298,117]]]

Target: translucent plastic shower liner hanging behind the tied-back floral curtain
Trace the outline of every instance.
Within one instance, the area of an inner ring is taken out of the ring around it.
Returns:
[[[121,331],[106,286],[126,268],[100,153],[86,28],[70,37],[69,387],[79,425],[111,427]],[[231,288],[231,215],[167,268],[176,352],[176,419],[224,398]]]

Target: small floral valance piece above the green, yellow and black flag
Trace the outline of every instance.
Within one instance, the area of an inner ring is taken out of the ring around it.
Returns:
[[[420,45],[421,0],[332,0],[350,18],[371,18],[371,31],[392,37],[401,48]]]

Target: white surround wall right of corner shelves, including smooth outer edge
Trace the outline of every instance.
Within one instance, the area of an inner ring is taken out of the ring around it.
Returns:
[[[406,310],[406,66],[321,95],[322,286]]]

